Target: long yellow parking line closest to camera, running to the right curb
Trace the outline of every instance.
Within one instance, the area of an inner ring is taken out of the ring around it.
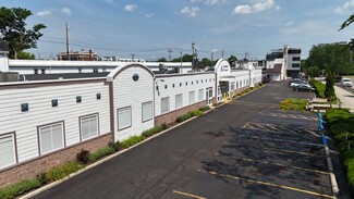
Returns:
[[[266,186],[270,186],[270,187],[277,187],[277,188],[294,190],[294,191],[298,191],[298,192],[305,192],[305,194],[313,195],[313,196],[319,196],[319,197],[324,197],[324,198],[333,198],[334,199],[333,196],[324,195],[324,194],[319,194],[319,192],[315,192],[315,191],[310,191],[310,190],[305,190],[305,189],[300,189],[300,188],[295,188],[295,187],[289,187],[289,186],[284,186],[284,185],[278,185],[278,184],[273,184],[273,183],[267,183],[267,182],[249,179],[249,178],[242,178],[242,177],[239,177],[239,176],[233,176],[233,175],[229,175],[229,174],[220,174],[220,173],[212,172],[212,171],[210,171],[210,172],[205,171],[205,170],[197,170],[197,171],[202,172],[202,173],[208,173],[208,174],[211,174],[211,175],[218,175],[218,176],[221,176],[221,177],[228,177],[228,178],[232,178],[232,179],[244,181],[246,183],[266,185]]]

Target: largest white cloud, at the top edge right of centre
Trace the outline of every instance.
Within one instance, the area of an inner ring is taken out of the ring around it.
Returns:
[[[258,2],[254,4],[242,4],[235,7],[232,14],[249,14],[263,12],[270,9],[276,9],[279,11],[281,7],[276,5],[274,0],[258,0]]]

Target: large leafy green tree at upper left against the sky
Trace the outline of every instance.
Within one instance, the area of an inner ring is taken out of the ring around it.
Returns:
[[[32,12],[22,8],[0,8],[0,40],[9,43],[10,58],[17,59],[20,51],[37,48],[37,40],[42,36],[39,32],[46,28],[44,24],[36,24],[26,29],[26,18]]]

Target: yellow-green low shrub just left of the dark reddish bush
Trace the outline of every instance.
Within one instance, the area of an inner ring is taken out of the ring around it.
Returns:
[[[81,162],[72,161],[72,162],[69,162],[63,165],[56,166],[56,167],[49,170],[46,173],[46,177],[52,182],[59,181],[59,179],[62,179],[62,178],[69,176],[72,173],[77,172],[78,170],[81,170],[83,167],[85,167],[85,166]]]

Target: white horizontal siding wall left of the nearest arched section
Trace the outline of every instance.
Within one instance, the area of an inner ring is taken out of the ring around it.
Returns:
[[[101,94],[101,99],[96,99]],[[76,103],[76,96],[82,102]],[[58,99],[58,107],[51,100]],[[28,103],[28,112],[21,112]],[[64,121],[65,146],[80,142],[80,116],[98,113],[99,132],[110,132],[109,87],[102,82],[0,89],[0,134],[15,132],[19,162],[38,156],[37,126]]]

